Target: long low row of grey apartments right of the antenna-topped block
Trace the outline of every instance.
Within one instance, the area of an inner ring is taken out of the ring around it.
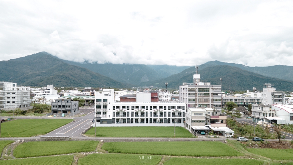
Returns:
[[[225,106],[226,102],[234,102],[238,107],[247,107],[249,104],[261,104],[261,98],[223,96],[222,105]]]

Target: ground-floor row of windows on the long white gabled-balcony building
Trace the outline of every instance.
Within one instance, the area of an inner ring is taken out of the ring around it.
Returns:
[[[182,123],[182,122],[184,122],[185,121],[185,119],[183,119],[183,121],[181,120],[181,119],[177,119],[177,121],[175,120],[175,119],[152,119],[152,118],[150,118],[150,119],[148,119],[148,118],[146,118],[146,119],[133,119],[133,118],[128,118],[128,119],[116,119],[116,121],[115,121],[115,119],[113,118],[112,119],[112,123],[113,124],[120,124],[120,123],[122,123],[122,124],[132,124],[133,122],[134,123],[146,123],[146,124],[148,124],[148,123]]]

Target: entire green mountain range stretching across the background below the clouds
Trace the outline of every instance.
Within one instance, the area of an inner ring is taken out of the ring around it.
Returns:
[[[182,83],[192,83],[195,67],[143,64],[77,63],[62,60],[47,52],[0,61],[0,80],[26,86],[56,87],[118,87],[158,86],[176,89]],[[209,61],[199,66],[203,82],[220,85],[228,90],[262,90],[265,83],[277,90],[293,87],[293,66],[275,65],[248,67],[242,64]]]

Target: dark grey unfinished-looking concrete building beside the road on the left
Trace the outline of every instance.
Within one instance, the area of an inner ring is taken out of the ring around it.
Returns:
[[[65,115],[71,116],[71,113],[77,114],[80,113],[78,107],[78,101],[71,101],[70,99],[57,99],[55,102],[52,102],[52,115],[61,116],[62,113]],[[72,114],[73,115],[73,114]]]

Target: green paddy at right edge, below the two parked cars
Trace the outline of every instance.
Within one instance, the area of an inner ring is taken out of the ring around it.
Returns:
[[[255,149],[255,148],[249,148],[249,149],[247,149],[247,151],[251,152],[253,154],[261,155],[261,156],[271,158],[274,160],[293,159],[293,149],[270,149],[270,148]]]

